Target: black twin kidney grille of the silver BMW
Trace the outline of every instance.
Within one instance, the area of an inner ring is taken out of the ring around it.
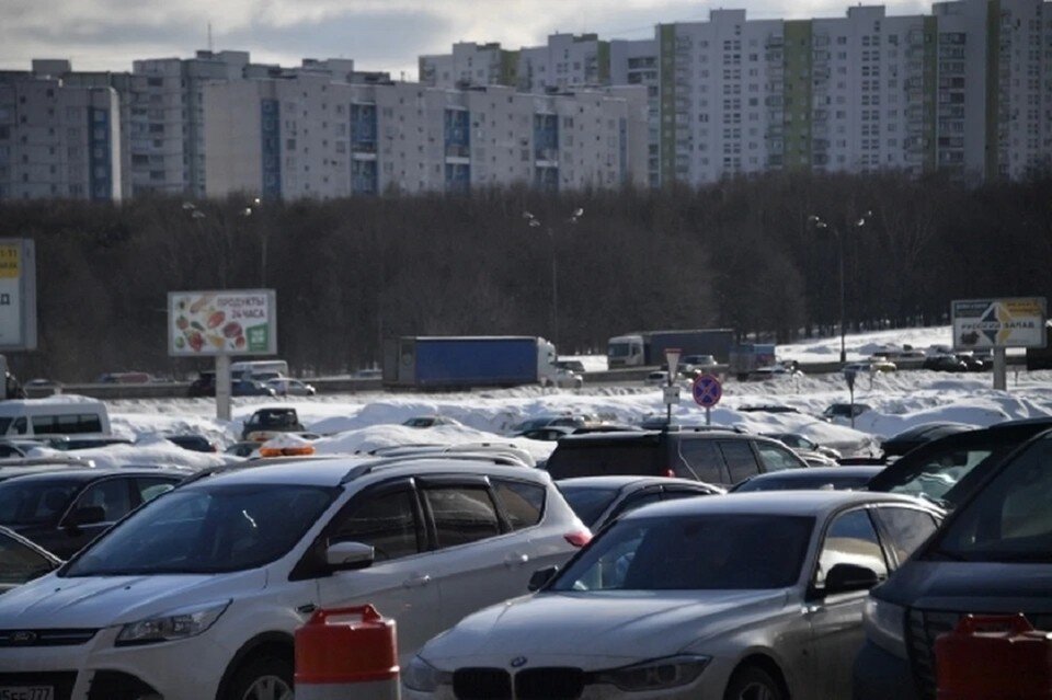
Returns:
[[[457,700],[511,700],[513,677],[503,668],[461,668],[453,675]],[[580,668],[528,668],[514,676],[515,700],[576,700],[584,691]]]

